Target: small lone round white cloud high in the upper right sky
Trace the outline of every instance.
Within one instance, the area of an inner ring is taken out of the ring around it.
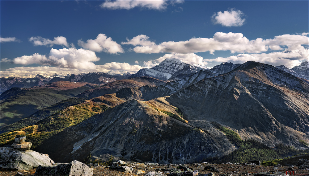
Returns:
[[[243,12],[240,10],[231,9],[231,11],[219,11],[215,13],[211,18],[215,24],[221,24],[225,27],[242,26],[245,22]]]

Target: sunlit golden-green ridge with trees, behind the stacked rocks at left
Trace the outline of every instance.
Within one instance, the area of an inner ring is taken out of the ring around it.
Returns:
[[[31,149],[35,149],[37,146],[44,143],[46,139],[59,133],[63,129],[76,125],[109,108],[109,106],[103,103],[95,103],[92,101],[85,101],[81,104],[70,106],[37,122],[36,125],[2,133],[0,136],[1,146],[12,144],[16,135],[23,135],[27,137],[27,142],[32,142]]]

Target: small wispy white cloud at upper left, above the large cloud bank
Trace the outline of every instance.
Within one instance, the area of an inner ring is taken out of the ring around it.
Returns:
[[[68,42],[66,41],[65,37],[62,36],[58,36],[55,37],[54,40],[50,40],[50,39],[45,39],[43,37],[40,36],[36,36],[36,37],[31,37],[29,39],[30,42],[33,42],[33,44],[35,46],[49,46],[52,47],[53,45],[61,45],[61,46],[65,46],[65,47],[69,47]]]

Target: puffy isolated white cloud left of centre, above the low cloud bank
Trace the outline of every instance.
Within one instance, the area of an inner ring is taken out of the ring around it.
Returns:
[[[113,41],[111,37],[107,37],[105,34],[99,34],[96,39],[89,39],[86,43],[82,40],[78,40],[78,45],[95,52],[104,51],[110,54],[124,53],[120,44]]]

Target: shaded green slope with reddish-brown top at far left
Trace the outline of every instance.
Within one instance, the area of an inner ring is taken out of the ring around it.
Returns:
[[[90,89],[83,86],[85,84],[87,83],[74,84],[72,82],[60,81],[43,85],[39,88],[28,88],[18,91],[14,91],[16,88],[13,88],[4,92],[1,95],[0,105],[1,127],[19,121],[42,108],[49,107],[61,100],[66,100]]]

